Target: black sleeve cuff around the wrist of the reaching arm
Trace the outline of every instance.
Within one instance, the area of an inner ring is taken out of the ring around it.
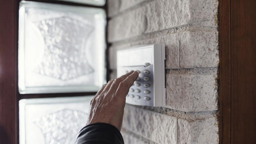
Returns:
[[[76,138],[76,144],[124,144],[124,140],[115,126],[94,123],[82,128]]]

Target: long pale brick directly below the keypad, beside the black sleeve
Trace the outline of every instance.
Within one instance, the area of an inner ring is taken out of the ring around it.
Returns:
[[[177,118],[126,104],[122,127],[158,144],[177,143]]]

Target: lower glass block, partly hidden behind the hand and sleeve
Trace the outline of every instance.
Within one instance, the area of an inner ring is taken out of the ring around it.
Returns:
[[[93,96],[19,101],[20,144],[74,144]]]

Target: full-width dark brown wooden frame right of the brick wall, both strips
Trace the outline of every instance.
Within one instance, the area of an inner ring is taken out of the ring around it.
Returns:
[[[220,144],[256,144],[255,34],[255,0],[219,0]]]

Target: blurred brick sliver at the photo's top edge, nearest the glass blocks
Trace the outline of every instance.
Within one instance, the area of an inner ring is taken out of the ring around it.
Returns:
[[[108,0],[108,16],[112,17],[119,12],[138,6],[138,4],[146,1],[149,0]]]

